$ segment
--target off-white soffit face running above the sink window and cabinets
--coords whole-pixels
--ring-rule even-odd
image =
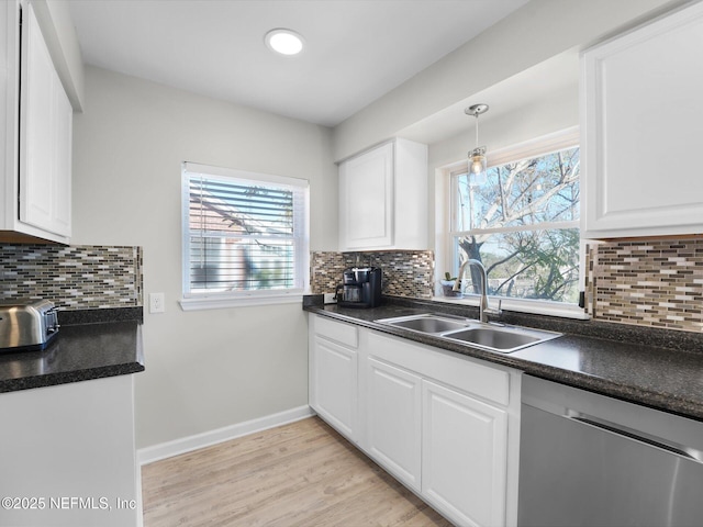
[[[531,0],[337,125],[333,157],[339,160],[364,150],[544,60],[680,3],[681,0]]]

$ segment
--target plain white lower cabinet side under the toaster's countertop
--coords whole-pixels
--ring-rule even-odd
[[[0,393],[0,525],[142,525],[133,377]]]

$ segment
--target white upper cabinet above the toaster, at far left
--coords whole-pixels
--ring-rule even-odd
[[[68,244],[72,105],[33,4],[2,2],[0,24],[0,240]]]

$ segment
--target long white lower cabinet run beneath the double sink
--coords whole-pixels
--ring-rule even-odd
[[[516,525],[520,371],[317,315],[310,327],[321,417],[455,525]]]

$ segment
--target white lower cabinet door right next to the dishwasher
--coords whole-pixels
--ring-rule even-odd
[[[423,381],[422,493],[459,525],[505,525],[505,411]]]

